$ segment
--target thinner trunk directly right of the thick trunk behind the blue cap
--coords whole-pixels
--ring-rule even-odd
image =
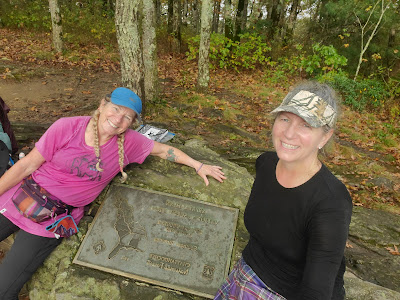
[[[155,100],[158,94],[156,3],[143,1],[143,63],[144,90],[147,100]]]

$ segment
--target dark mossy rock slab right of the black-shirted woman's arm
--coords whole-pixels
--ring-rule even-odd
[[[400,216],[355,206],[350,223],[347,269],[371,283],[400,292]],[[394,250],[390,252],[390,250]]]

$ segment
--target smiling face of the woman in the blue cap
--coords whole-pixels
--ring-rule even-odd
[[[99,109],[99,135],[106,139],[125,132],[136,118],[132,109],[104,100]]]

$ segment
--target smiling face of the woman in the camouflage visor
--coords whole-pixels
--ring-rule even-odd
[[[318,148],[323,147],[333,131],[311,127],[299,116],[282,112],[275,119],[272,141],[280,160],[286,163],[308,165],[314,163]]]

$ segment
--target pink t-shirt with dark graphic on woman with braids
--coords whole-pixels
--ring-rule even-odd
[[[93,147],[85,143],[85,130],[90,117],[62,118],[56,121],[35,144],[46,160],[35,172],[33,179],[50,194],[66,204],[77,207],[71,215],[78,223],[84,206],[91,203],[120,172],[117,137],[100,147],[103,172],[96,170],[96,155]],[[153,149],[154,142],[142,134],[128,129],[125,133],[124,166],[141,164]],[[0,213],[26,232],[54,237],[45,230],[53,221],[37,224],[22,216],[15,208],[11,197],[21,183],[0,196]]]

